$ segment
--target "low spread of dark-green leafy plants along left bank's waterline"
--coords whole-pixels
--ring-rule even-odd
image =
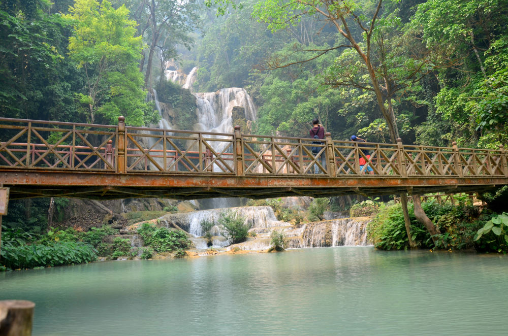
[[[2,264],[12,268],[33,268],[85,263],[97,259],[96,250],[84,243],[52,242],[48,245],[19,245],[2,242]]]

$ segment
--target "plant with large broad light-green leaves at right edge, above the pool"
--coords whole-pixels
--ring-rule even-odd
[[[508,252],[508,213],[493,216],[474,237],[481,250]]]

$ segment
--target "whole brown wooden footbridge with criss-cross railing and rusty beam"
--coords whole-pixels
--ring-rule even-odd
[[[267,198],[483,191],[508,184],[504,148],[471,149],[0,118],[10,198]],[[399,139],[400,140],[400,139]],[[311,148],[320,147],[312,155]],[[370,151],[367,157],[363,150]],[[319,157],[325,156],[325,164]],[[360,158],[372,167],[360,166]],[[314,165],[317,173],[314,174]]]

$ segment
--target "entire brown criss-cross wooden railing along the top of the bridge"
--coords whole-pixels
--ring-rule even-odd
[[[470,149],[0,118],[2,169],[315,177],[506,177],[504,148]],[[372,174],[372,175],[370,175]]]

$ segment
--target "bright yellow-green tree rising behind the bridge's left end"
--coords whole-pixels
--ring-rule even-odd
[[[85,93],[78,96],[87,106],[88,121],[101,116],[115,123],[123,115],[132,125],[152,123],[156,113],[145,102],[138,69],[143,43],[134,37],[136,22],[129,19],[129,10],[114,9],[106,0],[77,0],[70,13],[66,17],[73,20],[75,33],[69,50],[86,75]]]

